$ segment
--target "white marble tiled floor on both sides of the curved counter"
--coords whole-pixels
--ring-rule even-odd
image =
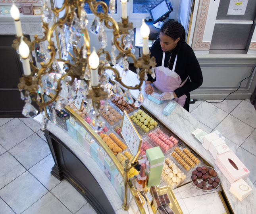
[[[248,100],[196,101],[190,109],[207,132],[218,129],[225,136],[251,171],[249,177],[256,186],[256,111],[252,104]],[[93,214],[78,191],[50,174],[53,165],[37,123],[27,118],[0,118],[0,214]],[[181,206],[189,203],[184,200],[178,199]]]

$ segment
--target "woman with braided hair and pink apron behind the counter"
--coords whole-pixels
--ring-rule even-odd
[[[192,48],[185,42],[185,29],[177,21],[164,23],[151,47],[151,57],[156,58],[156,78],[148,74],[145,92],[152,95],[153,85],[162,91],[160,100],[174,99],[189,112],[189,92],[202,85],[200,65]]]

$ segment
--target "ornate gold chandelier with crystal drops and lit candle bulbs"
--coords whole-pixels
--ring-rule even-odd
[[[96,52],[93,47],[91,52],[90,37],[88,31],[88,16],[85,11],[85,4],[89,5],[90,10],[95,15],[95,18],[90,26],[90,31],[98,35],[101,48]],[[75,93],[72,84],[75,80],[81,80],[79,90],[83,94],[84,100],[87,100],[88,106],[94,110],[96,120],[99,119],[99,107],[100,101],[105,100],[108,97],[108,91],[104,89],[104,83],[108,82],[108,78],[104,71],[110,69],[113,71],[112,80],[116,82],[113,87],[114,93],[123,93],[120,86],[125,87],[126,90],[124,98],[128,103],[133,102],[129,89],[139,89],[141,91],[141,85],[145,80],[147,74],[151,74],[155,77],[155,59],[150,58],[150,52],[148,49],[148,36],[149,28],[142,20],[141,34],[143,37],[143,54],[142,57],[136,59],[135,49],[133,48],[133,23],[129,23],[127,16],[127,0],[121,0],[122,17],[121,23],[117,23],[111,15],[115,13],[115,0],[110,0],[109,7],[105,2],[96,0],[64,0],[61,8],[50,9],[47,6],[47,0],[43,2],[42,11],[42,28],[44,28],[44,36],[38,38],[35,35],[35,40],[29,42],[23,37],[21,30],[21,22],[19,20],[19,10],[13,4],[11,8],[11,15],[15,21],[16,37],[13,41],[13,47],[18,51],[23,62],[23,77],[20,78],[18,84],[21,92],[21,98],[25,100],[25,106],[23,108],[23,115],[27,117],[33,117],[37,115],[36,108],[31,104],[31,101],[35,101],[40,110],[48,106],[52,102],[56,101],[55,108],[62,109],[68,101],[72,101],[75,98]],[[98,7],[102,7],[103,12],[98,12]],[[61,11],[65,11],[63,17],[59,17]],[[108,14],[110,11],[111,15]],[[65,42],[65,25],[69,28],[69,41]],[[105,51],[104,48],[107,45],[107,36],[105,28],[111,29],[113,33],[112,37],[112,51],[111,54]],[[57,31],[59,38],[62,41],[62,51],[64,57],[69,55],[72,62],[65,59],[57,59],[57,49],[52,41],[53,33]],[[81,48],[77,46],[81,39],[84,39],[84,44]],[[33,65],[31,51],[34,51],[35,44],[41,42],[48,42],[47,51],[50,57],[47,57],[46,50],[41,50],[41,68],[37,68]],[[69,48],[73,49],[73,55],[69,52]],[[118,55],[115,55],[115,50],[119,51]],[[104,60],[99,60],[99,57],[104,57]],[[131,57],[134,62],[134,66],[137,68],[137,75],[140,80],[139,84],[135,86],[125,85],[122,82],[119,71],[110,66],[116,64],[117,60],[120,60],[123,64],[123,74],[129,70],[129,62],[127,57]],[[63,62],[65,72],[62,72],[58,62]],[[31,72],[32,70],[32,72]],[[58,74],[52,76],[52,74]],[[44,80],[43,80],[44,76]],[[59,76],[56,79],[56,76]],[[44,81],[44,84],[42,82]],[[43,86],[44,85],[44,86]],[[67,85],[68,93],[62,93],[62,89]],[[47,102],[44,102],[42,96],[44,93],[48,94],[50,90],[54,90],[54,96]],[[24,92],[24,93],[23,93]],[[135,101],[135,105],[140,106],[143,102],[142,94]],[[106,108],[108,108],[108,102],[105,102]],[[46,117],[43,118],[44,123]],[[98,123],[100,126],[100,123]],[[99,127],[100,128],[100,127]],[[99,130],[99,129],[97,129]]]

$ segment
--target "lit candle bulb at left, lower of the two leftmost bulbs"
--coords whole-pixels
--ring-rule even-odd
[[[21,42],[19,45],[19,54],[22,58],[23,72],[26,76],[31,74],[30,64],[29,64],[29,46],[23,41],[23,36],[21,36]]]

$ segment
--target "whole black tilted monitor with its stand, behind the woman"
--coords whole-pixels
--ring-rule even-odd
[[[171,3],[167,0],[160,2],[158,5],[154,6],[154,8],[150,9],[149,12],[154,27],[160,29],[163,25],[162,21],[168,17],[171,11],[173,11],[173,8]]]

